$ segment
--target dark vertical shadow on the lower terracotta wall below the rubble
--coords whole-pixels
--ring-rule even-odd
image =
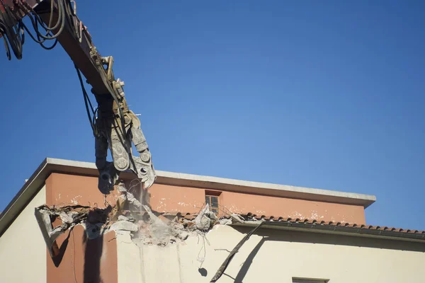
[[[83,234],[84,249],[84,283],[100,283],[101,257],[103,251],[103,234],[98,238],[89,239]]]

